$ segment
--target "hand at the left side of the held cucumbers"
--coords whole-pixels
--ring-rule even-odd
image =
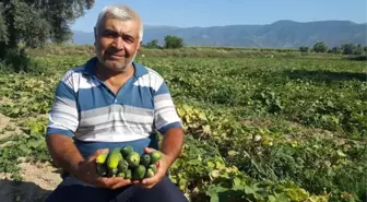
[[[131,180],[123,179],[121,177],[99,177],[96,171],[96,157],[100,153],[108,152],[108,148],[98,150],[94,154],[92,154],[86,161],[81,162],[73,170],[73,176],[78,179],[90,183],[92,186],[96,186],[99,188],[107,189],[118,189],[131,183]]]

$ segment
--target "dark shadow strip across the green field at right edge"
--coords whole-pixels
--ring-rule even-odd
[[[332,72],[328,70],[286,70],[283,73],[289,79],[310,80],[313,82],[367,81],[366,73]]]

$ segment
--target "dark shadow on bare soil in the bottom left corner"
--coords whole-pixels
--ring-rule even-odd
[[[43,202],[50,193],[34,182],[0,180],[1,202]]]

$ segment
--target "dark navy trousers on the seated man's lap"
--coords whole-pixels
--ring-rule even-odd
[[[165,176],[151,189],[128,186],[117,190],[82,183],[60,183],[46,202],[188,202],[183,193]]]

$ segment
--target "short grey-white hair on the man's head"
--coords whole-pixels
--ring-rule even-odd
[[[127,5],[122,4],[113,4],[113,5],[107,5],[105,7],[97,19],[95,29],[98,32],[99,25],[104,19],[118,19],[122,21],[130,21],[130,20],[138,20],[140,23],[140,28],[139,28],[139,41],[143,40],[143,22],[141,21],[139,14],[130,9]]]

